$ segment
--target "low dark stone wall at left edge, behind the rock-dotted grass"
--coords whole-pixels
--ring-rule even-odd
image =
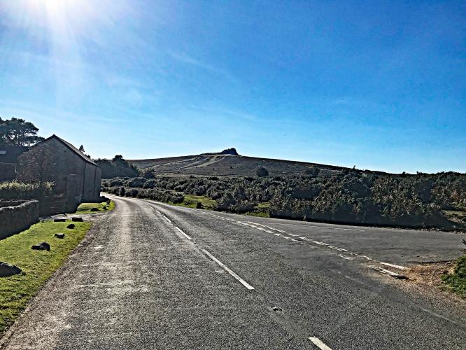
[[[27,230],[38,221],[37,200],[0,201],[0,239]]]

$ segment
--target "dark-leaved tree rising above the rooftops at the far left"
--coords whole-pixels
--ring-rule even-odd
[[[0,118],[0,144],[32,146],[44,139],[37,136],[37,133],[36,125],[24,119],[3,120]]]

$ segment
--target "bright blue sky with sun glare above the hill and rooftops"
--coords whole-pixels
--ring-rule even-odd
[[[0,0],[0,116],[94,158],[466,172],[463,1]]]

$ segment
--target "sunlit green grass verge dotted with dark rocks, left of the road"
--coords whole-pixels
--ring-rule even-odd
[[[69,223],[36,223],[29,230],[0,240],[0,260],[22,269],[20,274],[0,278],[0,337],[91,226],[91,223],[74,223],[76,228],[71,230],[66,228]],[[55,238],[57,232],[64,232],[65,238]],[[50,244],[50,251],[31,249],[41,241]]]

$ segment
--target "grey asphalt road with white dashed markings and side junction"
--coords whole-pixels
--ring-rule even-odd
[[[464,235],[112,198],[6,349],[466,349],[465,302],[372,267],[455,258]]]

